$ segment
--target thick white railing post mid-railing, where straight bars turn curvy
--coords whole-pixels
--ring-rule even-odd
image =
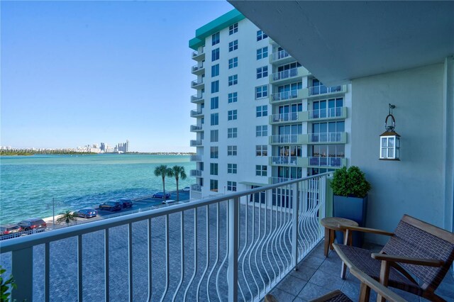
[[[228,301],[238,300],[238,210],[240,198],[228,201]]]

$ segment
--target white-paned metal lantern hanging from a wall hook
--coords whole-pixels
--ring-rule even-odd
[[[394,131],[396,119],[392,115],[392,109],[395,105],[389,104],[389,114],[384,120],[386,131],[380,135],[380,160],[399,160],[400,135]],[[388,118],[392,123],[388,125]]]

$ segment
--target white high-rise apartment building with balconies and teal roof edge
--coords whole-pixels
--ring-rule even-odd
[[[197,29],[189,47],[192,198],[347,164],[350,86],[324,86],[235,9]]]

